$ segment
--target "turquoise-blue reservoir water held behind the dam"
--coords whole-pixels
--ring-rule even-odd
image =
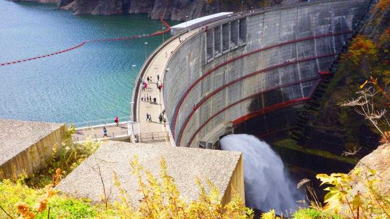
[[[146,14],[74,16],[54,4],[35,2],[0,0],[0,15],[0,63],[163,27]],[[0,118],[78,123],[128,116],[145,41],[150,54],[162,36],[87,43],[64,54],[0,66]],[[134,72],[132,65],[137,65]]]

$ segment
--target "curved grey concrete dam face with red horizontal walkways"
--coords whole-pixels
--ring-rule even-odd
[[[164,78],[176,146],[198,147],[232,124],[302,105],[369,6],[369,0],[319,0],[265,9],[185,39]]]

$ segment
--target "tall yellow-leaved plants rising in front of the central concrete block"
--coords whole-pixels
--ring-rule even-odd
[[[124,218],[246,219],[253,217],[252,209],[246,207],[241,197],[235,192],[232,201],[223,206],[219,190],[210,180],[206,180],[210,191],[207,193],[200,179],[196,178],[195,181],[200,190],[198,200],[183,200],[180,198],[173,177],[168,175],[164,158],[160,160],[159,179],[139,164],[137,156],[131,160],[130,165],[132,173],[138,179],[138,191],[143,198],[140,200],[137,209],[129,211]],[[146,176],[146,178],[143,176]],[[146,182],[144,182],[144,179],[146,179]],[[118,187],[120,184],[116,175],[114,175],[114,180]],[[115,207],[117,212],[123,212],[124,208],[120,207],[120,204],[116,203]]]

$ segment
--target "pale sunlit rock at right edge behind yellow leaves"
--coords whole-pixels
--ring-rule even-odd
[[[365,176],[366,173],[369,174],[369,169],[364,164],[376,170],[376,174],[382,178],[375,177],[380,180],[378,183],[378,192],[381,194],[390,194],[390,144],[379,146],[356,164],[355,168],[362,170],[360,176]],[[366,185],[362,181],[353,182],[352,188],[353,194],[356,194],[357,191],[366,191]]]

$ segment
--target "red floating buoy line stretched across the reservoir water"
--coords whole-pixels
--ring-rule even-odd
[[[40,59],[40,58],[50,57],[52,55],[58,55],[58,54],[66,53],[66,52],[72,51],[74,49],[77,49],[77,48],[79,48],[81,46],[84,46],[86,43],[114,42],[114,41],[118,41],[118,40],[137,39],[137,38],[143,38],[143,37],[154,37],[154,36],[162,35],[162,34],[165,34],[165,33],[169,32],[171,30],[171,26],[167,22],[165,22],[165,20],[163,20],[162,18],[160,18],[160,20],[161,20],[161,22],[165,26],[167,26],[167,29],[165,31],[157,31],[157,32],[155,32],[153,34],[146,34],[146,35],[144,34],[144,35],[136,35],[136,36],[117,37],[117,38],[104,38],[104,39],[86,40],[86,41],[83,41],[82,43],[80,43],[80,44],[78,44],[76,46],[73,46],[73,47],[70,47],[70,48],[67,48],[67,49],[55,52],[55,53],[51,53],[51,54],[47,54],[47,55],[39,55],[39,56],[35,56],[35,57],[32,57],[32,58],[19,59],[19,60],[10,61],[10,62],[4,62],[4,63],[1,63],[0,66],[12,65],[12,64],[20,63],[20,62],[32,61],[32,60],[36,60],[36,59]]]

